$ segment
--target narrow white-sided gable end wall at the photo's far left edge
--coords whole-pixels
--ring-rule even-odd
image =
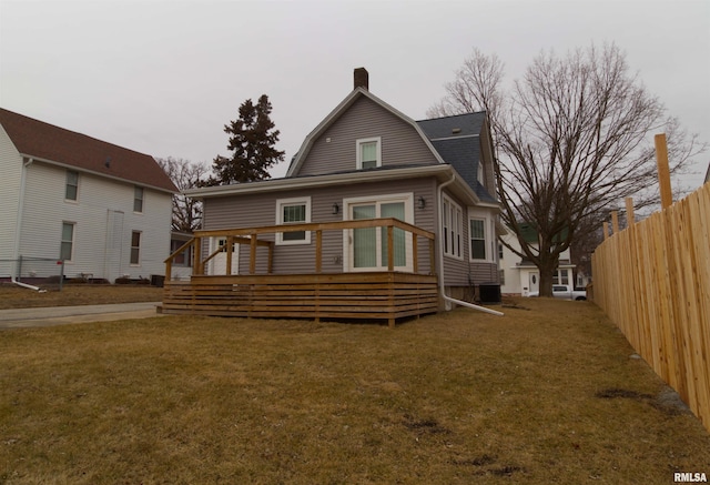
[[[0,170],[2,171],[2,190],[0,190],[0,260],[11,260],[14,257],[22,158],[2,125],[0,125]],[[0,277],[9,276],[9,263],[0,262]]]

